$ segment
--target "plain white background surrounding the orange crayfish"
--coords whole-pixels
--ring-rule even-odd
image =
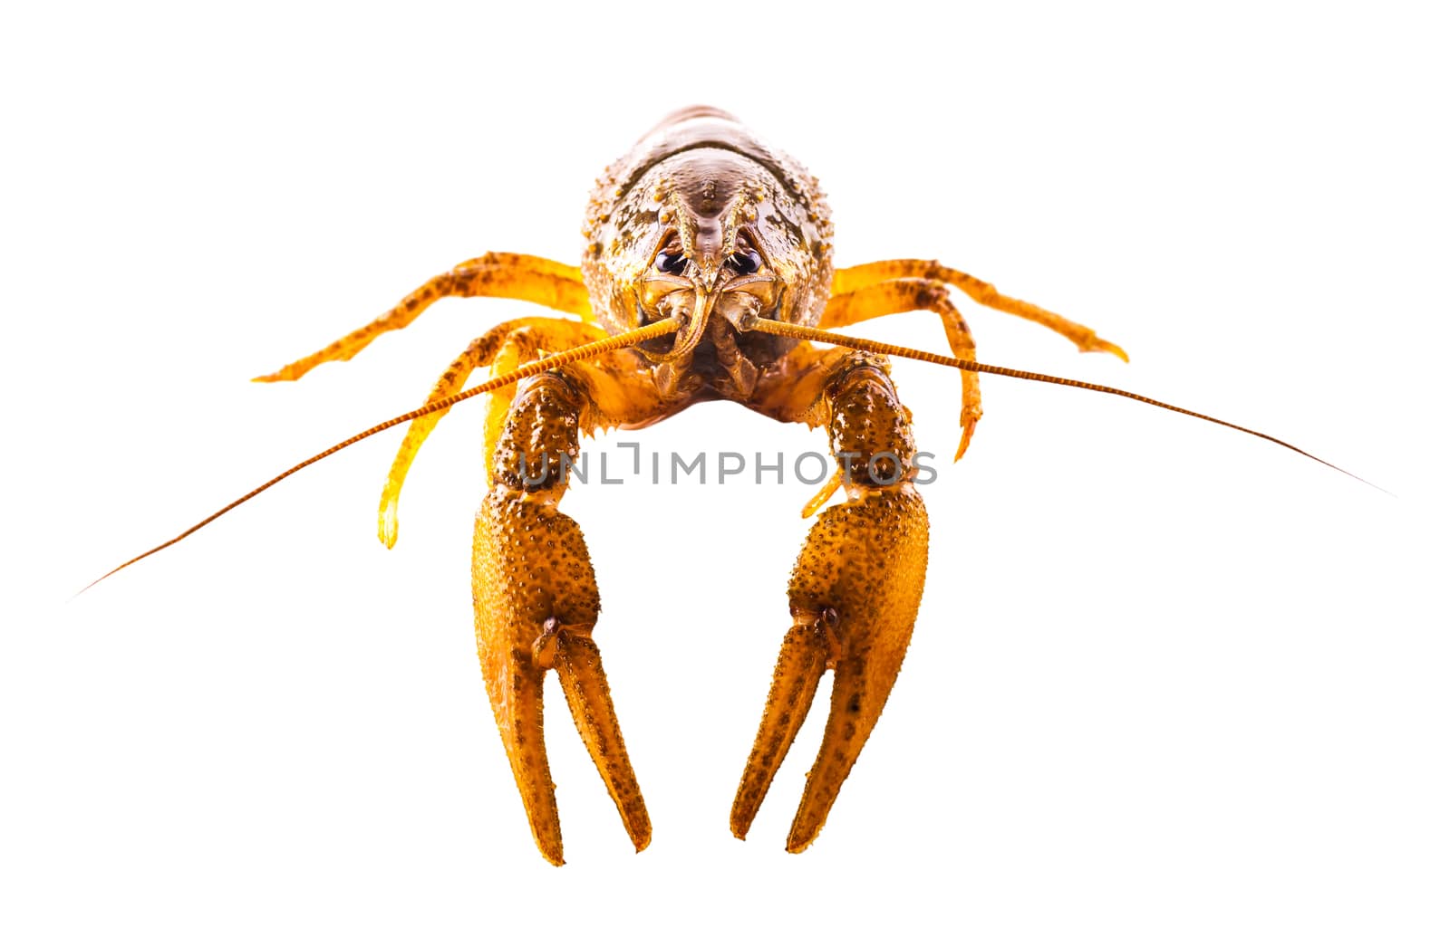
[[[0,919],[1446,922],[1433,4],[782,6],[4,14]],[[68,601],[532,311],[450,301],[352,363],[248,382],[484,250],[574,261],[597,171],[689,103],[822,178],[840,263],[940,258],[1132,355],[969,307],[983,360],[1243,421],[1395,495],[985,382],[972,452],[925,488],[914,647],[799,857],[824,712],[748,843],[726,814],[808,486],[570,494],[655,831],[634,856],[551,683],[563,870],[473,653],[476,404],[419,457],[393,552],[397,434]],[[942,350],[931,319],[863,330]],[[896,371],[948,457],[956,376]],[[624,437],[824,447],[725,404]]]

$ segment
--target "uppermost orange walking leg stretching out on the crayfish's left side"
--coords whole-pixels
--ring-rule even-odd
[[[265,374],[258,381],[294,381],[326,360],[348,360],[384,332],[405,329],[423,310],[444,297],[505,297],[526,300],[590,321],[589,291],[579,268],[534,255],[487,253],[439,274],[387,313],[351,332],[319,352]]]

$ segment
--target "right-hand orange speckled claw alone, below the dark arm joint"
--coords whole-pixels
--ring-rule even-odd
[[[925,578],[927,510],[909,485],[864,494],[821,514],[790,578],[795,624],[780,646],[731,809],[737,838],[750,831],[821,675],[834,669],[831,715],[786,850],[800,853],[821,832],[896,682]]]

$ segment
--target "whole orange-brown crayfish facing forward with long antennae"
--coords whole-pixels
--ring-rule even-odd
[[[948,288],[1045,326],[1080,350],[1127,355],[1086,326],[935,261],[834,268],[831,213],[818,181],[716,109],[673,113],[610,165],[589,201],[584,237],[580,266],[516,253],[467,261],[367,326],[257,378],[291,381],[323,362],[347,360],[444,297],[505,297],[563,314],[494,326],[452,362],[420,408],[302,462],[141,554],[174,544],[309,463],[407,421],[378,515],[378,534],[392,546],[399,494],[419,446],[454,402],[487,394],[489,491],[473,543],[478,659],[534,840],[552,864],[564,859],[544,750],[550,669],[635,848],[650,843],[650,817],[592,638],[600,608],[593,568],[579,524],[558,508],[570,478],[561,463],[577,459],[581,431],[642,429],[708,400],[825,427],[837,468],[806,505],[816,521],[790,575],[790,627],[729,815],[731,831],[744,838],[821,678],[832,670],[825,737],[789,851],[816,838],[880,718],[927,576],[927,510],[914,485],[911,416],[887,355],[960,371],[957,457],[982,417],[983,372],[1116,394],[1286,444],[1111,387],[979,363]],[[950,356],[832,332],[911,311],[937,314]],[[490,379],[464,389],[480,368]],[[837,492],[844,501],[826,507]]]

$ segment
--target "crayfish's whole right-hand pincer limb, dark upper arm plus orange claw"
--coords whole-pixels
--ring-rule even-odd
[[[834,359],[834,375],[818,400],[796,408],[795,421],[824,414],[847,501],[821,514],[796,560],[795,623],[731,809],[731,831],[744,838],[821,676],[834,669],[825,738],[786,843],[792,853],[819,834],[886,705],[927,578],[927,510],[911,482],[915,444],[884,362],[863,353],[822,358]]]

